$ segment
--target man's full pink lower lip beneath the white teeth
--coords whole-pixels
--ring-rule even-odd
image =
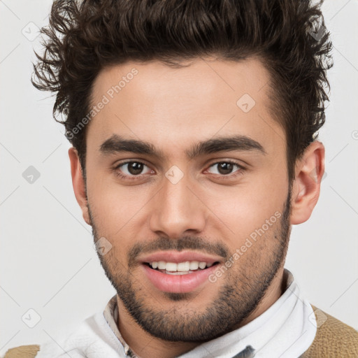
[[[185,275],[170,275],[150,268],[145,264],[142,266],[150,282],[160,291],[187,293],[194,291],[204,282],[208,282],[208,276],[215,271],[217,265]]]

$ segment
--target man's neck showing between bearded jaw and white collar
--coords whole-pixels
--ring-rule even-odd
[[[245,318],[245,320],[238,322],[230,331],[234,331],[240,327],[245,326],[256,317],[262,315],[268,308],[270,308],[275,301],[277,301],[283,292],[285,292],[287,276],[284,273],[283,267],[273,278],[271,285],[268,287],[264,297],[259,302],[255,310]],[[124,307],[122,300],[117,296],[118,315],[120,317],[118,329],[124,338],[124,341],[129,345],[131,350],[138,357],[146,358],[173,358],[189,352],[201,343],[196,342],[170,342],[164,341],[160,338],[154,337],[145,331],[134,319],[129,315],[127,309]],[[227,332],[229,333],[229,332]]]

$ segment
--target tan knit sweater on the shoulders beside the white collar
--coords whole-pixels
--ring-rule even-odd
[[[310,348],[297,358],[358,358],[358,331],[312,307],[317,333]],[[3,358],[34,358],[39,350],[39,345],[21,345],[8,350]]]

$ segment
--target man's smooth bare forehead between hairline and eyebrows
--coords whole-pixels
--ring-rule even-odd
[[[268,149],[284,145],[284,131],[268,109],[269,74],[259,59],[184,64],[127,62],[103,69],[94,81],[92,106],[105,104],[90,121],[87,147],[99,150],[113,134],[173,150],[228,134]]]

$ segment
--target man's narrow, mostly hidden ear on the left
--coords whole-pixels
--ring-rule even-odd
[[[87,207],[85,180],[83,178],[83,171],[81,169],[78,152],[75,148],[72,147],[69,149],[69,157],[71,162],[72,185],[76,200],[82,210],[83,219],[87,222],[87,224],[92,225]]]

